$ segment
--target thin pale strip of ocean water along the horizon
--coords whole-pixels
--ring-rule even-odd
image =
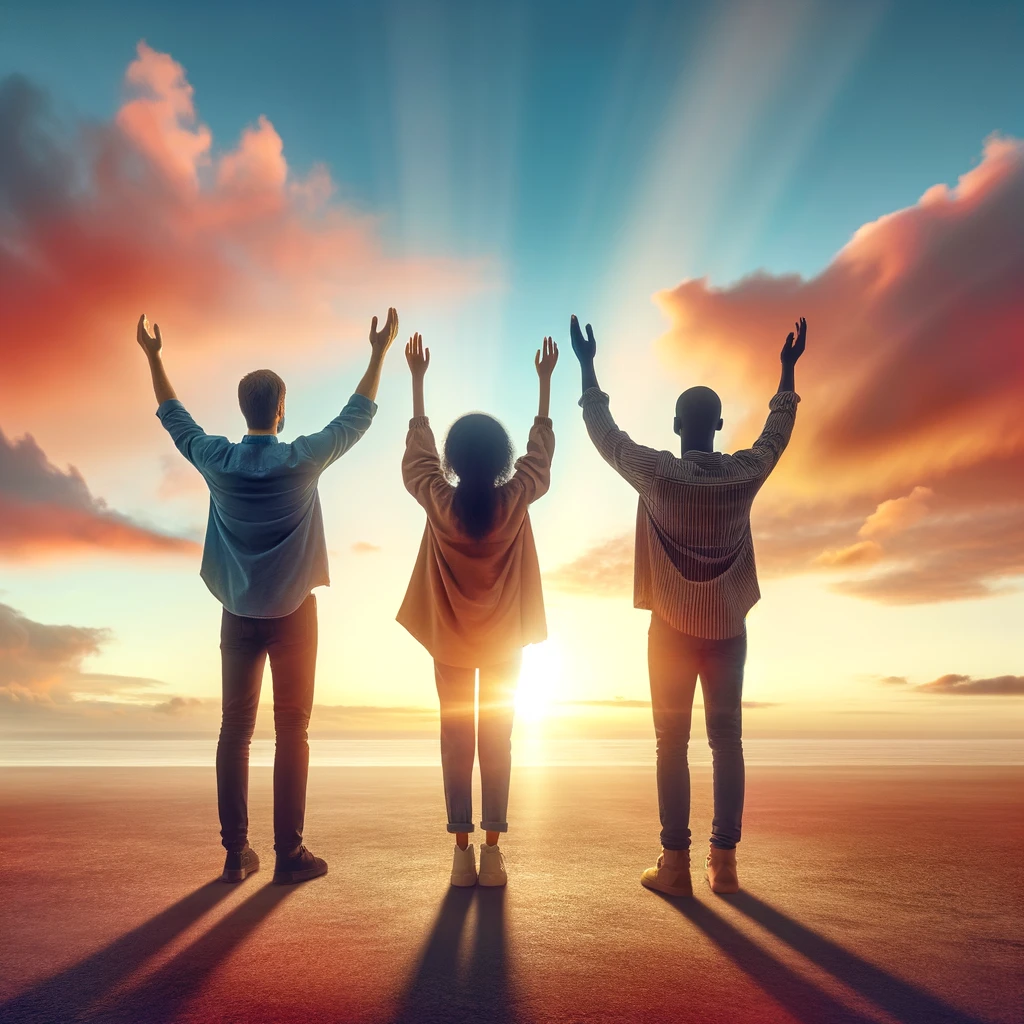
[[[429,767],[440,764],[435,737],[310,739],[310,764],[337,767]],[[0,739],[0,767],[210,767],[216,739]],[[761,739],[743,740],[751,767],[1024,765],[1021,739]],[[649,767],[652,739],[538,739],[513,742],[514,764],[547,767]],[[711,764],[702,740],[690,762]],[[254,766],[273,763],[273,740],[254,739]]]

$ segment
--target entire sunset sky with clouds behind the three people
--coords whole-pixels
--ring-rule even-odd
[[[620,425],[675,449],[705,383],[729,451],[807,317],[755,506],[749,734],[1020,733],[1024,8],[90,7],[0,10],[0,733],[215,728],[206,492],[138,314],[211,433],[240,437],[239,378],[276,370],[287,440],[336,415],[388,305],[377,418],[321,484],[313,731],[425,728],[436,702],[394,622],[419,331],[438,435],[481,409],[520,452],[534,352],[561,345],[523,716],[649,732],[636,498],[575,404],[575,312]]]

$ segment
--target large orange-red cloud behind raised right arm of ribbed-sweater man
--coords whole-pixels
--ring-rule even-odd
[[[793,442],[755,506],[767,572],[843,570],[890,603],[982,597],[1024,575],[1024,142],[992,137],[953,187],[865,224],[817,276],[687,281],[657,300],[687,383],[756,436],[798,315]],[[854,574],[849,574],[849,573]]]

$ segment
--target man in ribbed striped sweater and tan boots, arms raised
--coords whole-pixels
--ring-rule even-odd
[[[736,892],[736,844],[743,811],[741,698],[746,658],[746,612],[761,596],[751,538],[751,506],[793,432],[800,396],[795,367],[804,351],[801,318],[782,348],[782,377],[768,422],[750,449],[715,451],[722,402],[706,387],[676,402],[675,432],[682,456],[656,452],[615,426],[608,396],[598,387],[597,343],[575,316],[572,350],[583,371],[584,422],[602,458],[640,496],[637,507],[633,603],[651,612],[650,696],[657,741],[657,801],[662,855],[641,876],[648,889],[692,896],[690,776],[686,749],[699,677],[714,763],[715,817],[706,866],[711,888]]]

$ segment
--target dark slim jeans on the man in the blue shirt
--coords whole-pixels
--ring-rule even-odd
[[[241,850],[249,831],[249,741],[256,726],[263,668],[273,676],[273,848],[282,857],[302,845],[316,668],[316,598],[290,615],[244,618],[226,609],[220,626],[223,719],[217,743],[217,809],[227,850]]]

